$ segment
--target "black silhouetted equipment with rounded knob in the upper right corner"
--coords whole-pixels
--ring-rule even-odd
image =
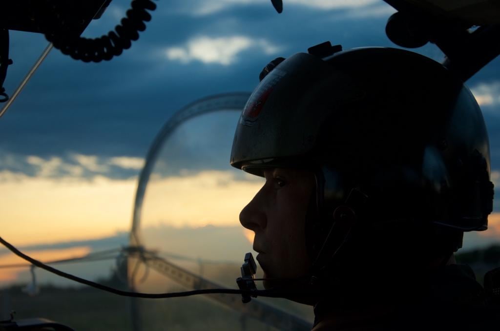
[[[466,7],[451,10],[443,4],[442,8],[439,4],[423,4],[432,1],[384,1],[397,10],[385,26],[387,37],[406,48],[434,43],[446,55],[443,65],[462,81],[500,54],[498,1],[482,1],[482,6],[471,4],[468,12]]]

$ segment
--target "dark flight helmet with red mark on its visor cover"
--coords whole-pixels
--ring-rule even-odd
[[[328,42],[269,63],[241,113],[230,163],[256,175],[314,171],[306,236],[317,259],[338,253],[347,234],[363,249],[451,253],[463,231],[487,228],[492,210],[476,100],[443,65],[402,49]],[[355,225],[332,230],[342,217]]]

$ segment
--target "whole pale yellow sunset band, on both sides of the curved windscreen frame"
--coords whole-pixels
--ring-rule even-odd
[[[253,176],[254,177],[254,176]],[[241,208],[261,186],[230,171],[201,171],[148,185],[142,225],[238,225]],[[29,177],[0,172],[2,230],[17,245],[113,235],[131,226],[136,179]]]

